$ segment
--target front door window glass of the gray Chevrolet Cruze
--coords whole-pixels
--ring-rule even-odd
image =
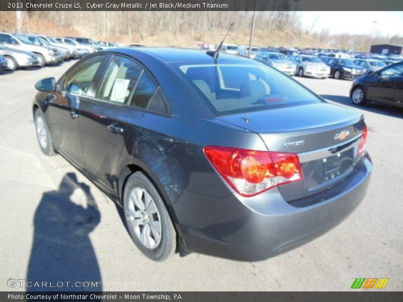
[[[98,55],[81,62],[65,75],[61,90],[86,95],[104,58],[105,55]]]

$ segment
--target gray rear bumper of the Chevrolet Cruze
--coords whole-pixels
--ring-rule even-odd
[[[190,215],[179,223],[184,251],[260,261],[301,246],[353,212],[365,197],[371,171],[372,163],[366,155],[343,189],[337,191],[335,186],[334,195],[323,201],[318,196],[317,203],[309,206],[287,203],[276,190],[249,199],[231,194],[212,200],[188,193],[188,203],[196,207],[193,211],[199,211],[198,216]]]

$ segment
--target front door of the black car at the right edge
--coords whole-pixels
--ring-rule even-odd
[[[396,80],[399,78],[397,72],[391,66],[371,74],[372,81],[367,84],[367,98],[381,103],[394,103]]]

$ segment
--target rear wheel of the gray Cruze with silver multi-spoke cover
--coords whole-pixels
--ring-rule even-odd
[[[176,232],[164,202],[153,183],[141,172],[132,174],[123,193],[128,232],[148,258],[164,261],[176,250]]]

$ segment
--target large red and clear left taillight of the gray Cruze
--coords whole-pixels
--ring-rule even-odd
[[[302,180],[298,155],[206,146],[207,158],[242,196],[253,196],[276,186]]]

